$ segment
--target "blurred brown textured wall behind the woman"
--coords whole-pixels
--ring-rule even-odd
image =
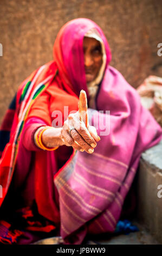
[[[111,65],[137,87],[150,74],[162,76],[162,2],[159,0],[1,0],[0,122],[18,85],[52,59],[61,26],[74,18],[94,20],[112,50]]]

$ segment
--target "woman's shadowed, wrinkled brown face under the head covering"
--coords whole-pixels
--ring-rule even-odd
[[[83,39],[83,52],[85,58],[86,82],[92,82],[98,76],[102,65],[101,45],[95,38]]]

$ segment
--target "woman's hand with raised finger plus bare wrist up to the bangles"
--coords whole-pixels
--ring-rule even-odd
[[[63,127],[51,127],[42,133],[42,142],[46,147],[67,145],[82,152],[93,153],[100,137],[95,127],[88,124],[87,95],[84,90],[80,92],[78,107],[76,113],[69,114]]]

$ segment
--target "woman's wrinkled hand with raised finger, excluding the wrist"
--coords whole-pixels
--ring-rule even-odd
[[[100,137],[95,127],[88,124],[87,95],[84,90],[80,92],[78,106],[79,110],[69,114],[67,120],[64,121],[61,139],[67,146],[92,154]]]

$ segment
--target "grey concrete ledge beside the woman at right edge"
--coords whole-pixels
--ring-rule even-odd
[[[142,153],[137,179],[138,221],[162,243],[162,197],[158,197],[158,185],[162,185],[162,141]]]

